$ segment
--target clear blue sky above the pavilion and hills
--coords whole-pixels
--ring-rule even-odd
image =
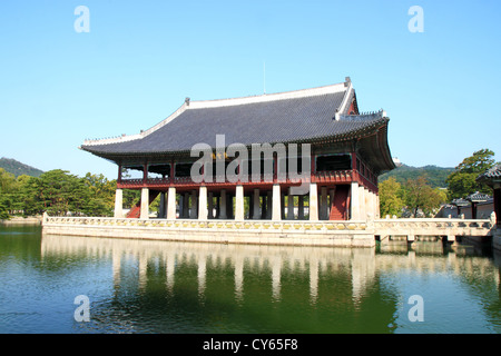
[[[90,32],[73,13],[89,11]],[[424,32],[409,31],[411,6]],[[86,138],[137,134],[184,101],[352,78],[391,118],[392,156],[454,167],[501,160],[501,1],[0,1],[0,156],[42,170],[117,168]]]

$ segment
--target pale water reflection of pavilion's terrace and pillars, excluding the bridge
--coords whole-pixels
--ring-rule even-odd
[[[310,296],[318,294],[318,275],[338,269],[351,271],[353,298],[361,297],[375,274],[374,249],[220,245],[204,243],[175,243],[158,240],[109,239],[91,237],[63,237],[43,235],[42,257],[53,255],[82,255],[112,258],[115,283],[119,283],[122,260],[137,264],[139,286],[147,281],[148,264],[161,264],[166,270],[166,285],[171,289],[176,269],[181,264],[197,266],[198,290],[206,288],[207,266],[230,265],[234,269],[235,297],[240,299],[244,289],[244,269],[271,270],[274,299],[281,298],[281,279],[284,269],[306,273],[310,279]]]

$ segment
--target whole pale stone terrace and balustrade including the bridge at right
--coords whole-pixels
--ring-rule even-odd
[[[165,239],[212,243],[373,247],[375,236],[483,238],[495,235],[489,219],[376,219],[367,220],[222,220],[128,219],[107,217],[50,217],[43,230],[52,235]]]

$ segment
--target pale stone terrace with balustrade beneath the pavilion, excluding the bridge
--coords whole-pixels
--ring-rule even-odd
[[[223,244],[374,247],[366,221],[43,217],[43,234]]]

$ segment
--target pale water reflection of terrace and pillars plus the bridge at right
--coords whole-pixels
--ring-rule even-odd
[[[55,255],[82,255],[110,257],[115,284],[120,283],[124,260],[135,264],[139,288],[147,283],[148,265],[161,265],[166,271],[166,288],[171,290],[176,271],[183,264],[196,266],[198,294],[204,295],[207,266],[230,266],[234,293],[237,300],[244,297],[245,270],[255,269],[268,274],[272,295],[281,299],[282,278],[285,273],[308,276],[310,298],[318,298],[320,276],[342,273],[351,285],[351,298],[356,303],[367,288],[376,283],[377,274],[386,270],[412,269],[418,273],[453,271],[461,276],[489,279],[500,286],[500,271],[492,261],[482,257],[450,251],[439,256],[441,245],[426,244],[428,248],[406,253],[377,254],[374,249],[289,247],[259,245],[220,245],[203,243],[175,243],[158,240],[109,239],[91,237],[63,237],[45,235],[41,244],[42,258]],[[430,247],[431,246],[431,247]],[[497,265],[500,265],[498,261]]]

